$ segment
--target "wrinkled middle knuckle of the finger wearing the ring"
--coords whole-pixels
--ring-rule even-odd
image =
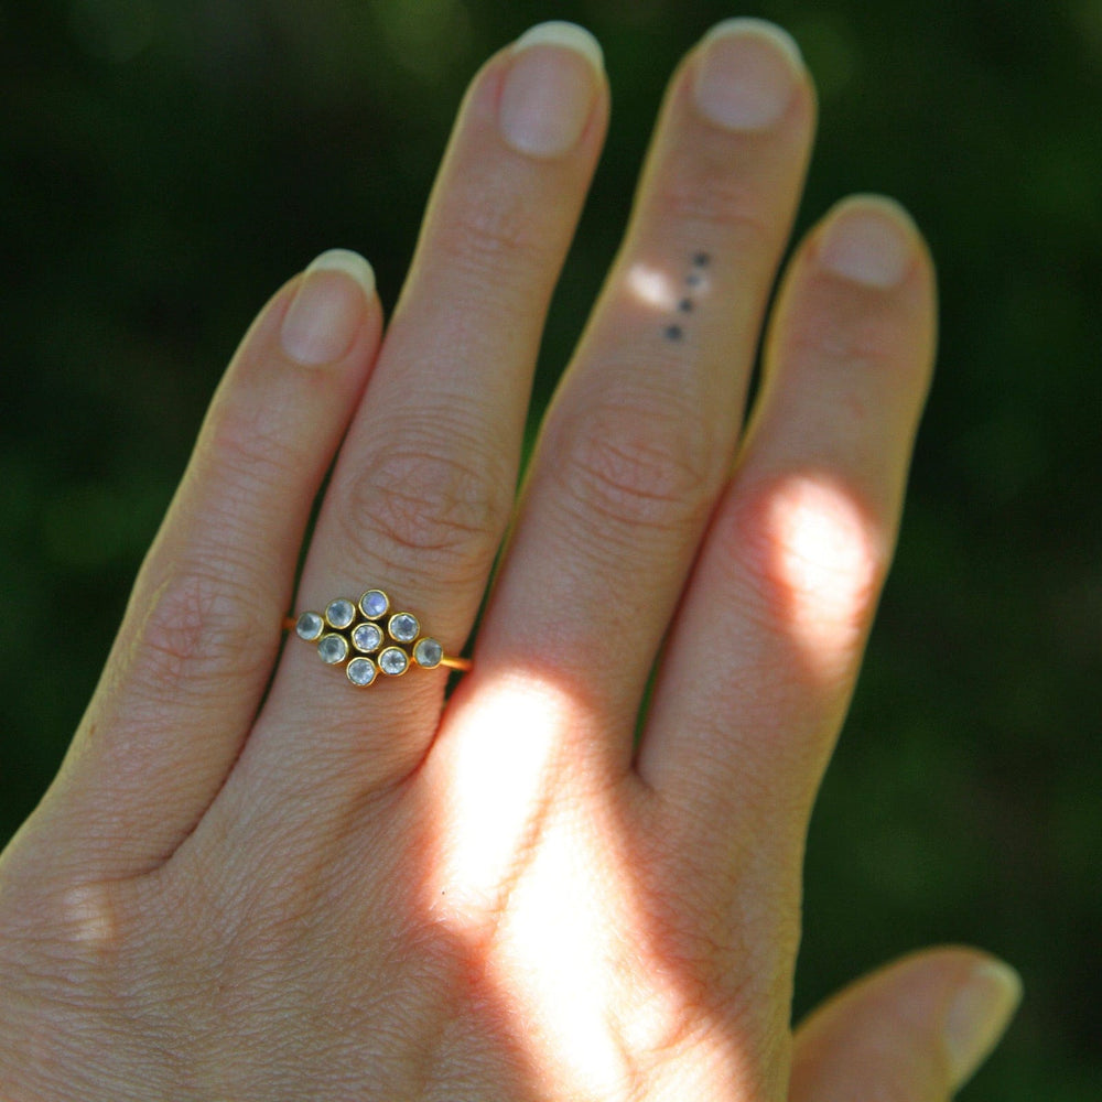
[[[343,517],[353,547],[369,541],[391,568],[415,554],[419,570],[454,581],[482,570],[497,545],[512,485],[489,449],[435,437],[407,431],[401,444],[369,458]]]

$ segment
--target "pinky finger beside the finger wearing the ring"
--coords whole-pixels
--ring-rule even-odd
[[[99,688],[29,824],[60,836],[82,875],[166,860],[225,780],[381,328],[370,266],[332,250],[268,303],[238,348]]]

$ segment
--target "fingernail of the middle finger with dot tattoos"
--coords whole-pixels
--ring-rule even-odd
[[[802,78],[800,47],[761,19],[726,19],[704,35],[696,106],[727,130],[765,130],[791,102]]]

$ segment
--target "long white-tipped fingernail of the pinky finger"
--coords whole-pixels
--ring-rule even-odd
[[[303,274],[280,337],[283,350],[300,364],[317,366],[341,359],[375,294],[375,272],[348,249],[323,252]]]

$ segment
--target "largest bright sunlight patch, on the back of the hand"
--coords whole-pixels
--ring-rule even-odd
[[[571,737],[592,727],[584,703],[518,668],[453,707],[423,775],[428,908],[469,948],[487,1002],[522,1024],[526,1062],[562,1098],[635,1096],[640,1076],[667,1068],[671,1099],[742,1082],[741,1050],[656,955],[622,809],[586,789]]]

